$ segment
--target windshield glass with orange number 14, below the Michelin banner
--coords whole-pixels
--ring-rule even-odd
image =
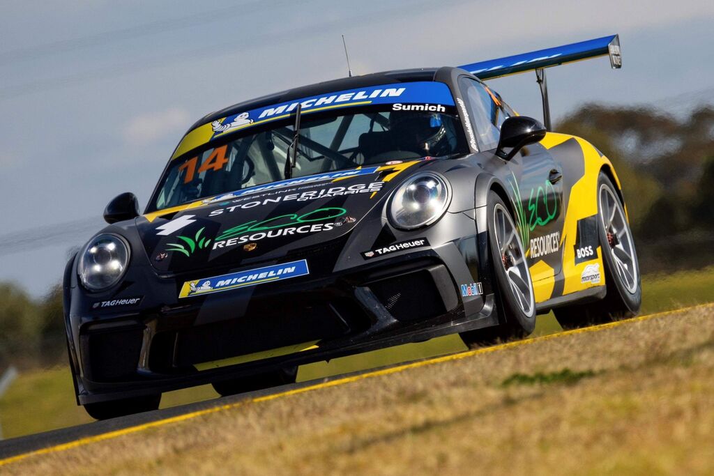
[[[292,177],[425,156],[468,153],[453,106],[387,103],[301,115]],[[285,178],[294,113],[214,140],[171,161],[150,210]],[[220,128],[216,123],[213,130]],[[226,141],[226,139],[230,139]]]

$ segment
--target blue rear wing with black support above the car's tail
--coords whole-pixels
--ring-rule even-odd
[[[459,68],[466,69],[466,71],[482,80],[535,71],[540,93],[543,96],[543,122],[545,127],[550,130],[550,106],[548,105],[548,85],[545,82],[545,68],[582,61],[583,59],[598,58],[599,56],[609,56],[610,66],[613,69],[621,68],[623,60],[620,53],[620,36],[603,36],[594,40],[555,46],[555,48],[465,64],[459,66]]]

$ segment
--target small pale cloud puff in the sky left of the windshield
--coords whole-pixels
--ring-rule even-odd
[[[188,111],[176,107],[164,111],[142,113],[126,124],[124,140],[129,145],[146,145],[160,141],[166,136],[186,131],[190,125],[189,120]]]

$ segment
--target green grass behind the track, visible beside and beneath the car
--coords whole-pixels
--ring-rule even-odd
[[[643,279],[643,313],[709,302],[714,302],[714,267],[686,273],[653,275]],[[560,326],[550,314],[538,318],[534,335],[546,335],[559,330]],[[466,346],[458,336],[448,336],[426,343],[335,359],[329,364],[305,365],[298,373],[298,380],[312,380],[465,349]],[[217,396],[206,385],[166,393],[161,406],[169,407]],[[90,421],[91,418],[74,402],[69,370],[64,367],[24,373],[0,399],[0,425],[2,435],[6,438]]]

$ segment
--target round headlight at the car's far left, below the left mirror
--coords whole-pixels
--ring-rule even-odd
[[[79,258],[79,279],[90,291],[115,285],[129,264],[129,245],[116,235],[99,235],[84,247]]]

